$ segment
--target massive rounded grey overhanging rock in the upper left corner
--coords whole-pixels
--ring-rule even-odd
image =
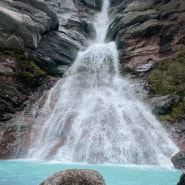
[[[0,45],[23,50],[37,48],[44,32],[58,29],[57,15],[39,0],[0,2]]]

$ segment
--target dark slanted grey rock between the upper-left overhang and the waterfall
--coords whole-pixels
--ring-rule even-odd
[[[51,75],[62,76],[75,60],[78,51],[95,36],[92,16],[95,11],[92,10],[92,13],[81,1],[75,3],[65,1],[64,4],[58,1],[46,3],[58,13],[59,31],[45,34],[39,47],[36,50],[27,50],[26,56],[29,59],[39,59],[41,62],[37,64],[49,70]]]

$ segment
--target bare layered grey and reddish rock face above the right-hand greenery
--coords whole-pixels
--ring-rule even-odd
[[[107,40],[116,41],[123,66],[161,62],[184,47],[184,10],[184,1],[113,1]]]

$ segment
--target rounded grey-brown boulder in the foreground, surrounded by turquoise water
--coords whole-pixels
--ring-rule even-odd
[[[105,185],[103,177],[94,170],[72,169],[55,173],[40,185]]]

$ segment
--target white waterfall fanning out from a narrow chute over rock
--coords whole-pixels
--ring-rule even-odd
[[[164,165],[177,151],[119,75],[115,43],[104,43],[108,7],[105,0],[95,21],[95,43],[79,52],[66,77],[50,90],[28,158]]]

